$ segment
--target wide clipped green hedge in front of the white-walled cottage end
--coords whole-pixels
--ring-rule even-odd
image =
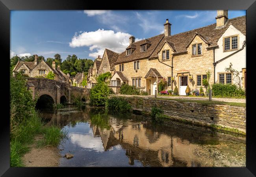
[[[215,83],[212,85],[212,94],[215,97],[244,97],[245,91],[233,84]]]

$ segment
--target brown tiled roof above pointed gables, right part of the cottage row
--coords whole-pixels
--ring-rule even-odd
[[[168,43],[171,42],[174,44],[174,48],[176,52],[182,52],[186,50],[187,45],[193,37],[195,37],[195,34],[198,33],[202,37],[202,39],[209,42],[210,46],[217,45],[217,41],[219,38],[223,35],[223,33],[226,31],[226,29],[232,24],[237,30],[241,31],[241,33],[246,35],[246,16],[241,16],[237,18],[228,19],[226,22],[226,25],[223,28],[215,28],[215,24],[211,24],[202,28],[197,28],[195,30],[186,31],[183,33],[178,33],[176,35],[166,36],[163,38],[163,40],[159,43],[156,50],[152,53],[150,58],[152,57],[158,57],[158,51],[161,49],[161,46],[165,41]]]

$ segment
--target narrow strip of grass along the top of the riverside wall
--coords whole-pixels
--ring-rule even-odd
[[[246,107],[246,103],[234,103],[234,102],[224,102],[224,101],[186,100],[186,99],[178,99],[178,98],[156,98],[156,99],[157,100],[173,100],[173,101],[178,101],[179,103],[193,102],[193,103],[201,103],[203,105],[230,105],[230,106]]]

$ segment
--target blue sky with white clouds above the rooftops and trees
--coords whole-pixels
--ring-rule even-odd
[[[228,18],[246,15],[246,11],[228,11]],[[163,33],[168,18],[171,35],[215,23],[217,11],[11,11],[11,46],[13,55],[56,53],[66,59],[95,59],[108,48],[123,52],[130,35],[135,41]]]

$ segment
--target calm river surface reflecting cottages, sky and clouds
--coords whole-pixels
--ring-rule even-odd
[[[69,131],[69,139],[61,144],[61,155],[72,153],[74,158],[61,158],[60,166],[217,166],[219,161],[204,146],[245,148],[244,138],[175,122],[155,123],[143,116],[105,112],[103,108],[43,115],[50,120],[48,124]],[[245,156],[245,151],[242,153]],[[237,166],[245,164],[245,159],[241,161]],[[236,166],[232,163],[223,162]]]

